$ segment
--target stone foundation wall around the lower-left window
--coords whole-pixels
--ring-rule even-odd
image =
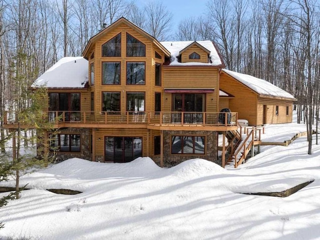
[[[89,128],[65,128],[59,129],[60,134],[80,134],[80,152],[56,152],[56,161],[63,161],[68,158],[78,157],[91,161],[92,154],[90,153],[90,134]]]

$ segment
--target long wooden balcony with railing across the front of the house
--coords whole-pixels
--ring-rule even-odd
[[[90,112],[44,111],[54,128],[147,128],[158,130],[236,130],[237,113],[232,112]],[[14,111],[4,114],[4,128],[16,129]],[[20,121],[21,128],[32,128]]]

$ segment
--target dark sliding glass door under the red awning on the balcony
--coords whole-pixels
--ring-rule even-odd
[[[172,112],[184,112],[183,123],[202,122],[205,111],[205,94],[175,93],[172,94]],[[172,122],[181,122],[181,113],[172,113]]]

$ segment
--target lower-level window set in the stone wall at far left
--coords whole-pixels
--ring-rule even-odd
[[[60,152],[79,152],[80,134],[56,134],[49,135],[50,151],[58,150]]]

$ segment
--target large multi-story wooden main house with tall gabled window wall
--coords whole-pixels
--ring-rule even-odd
[[[237,108],[238,92],[221,85],[232,77],[223,68],[211,41],[158,42],[120,18],[89,40],[82,57],[59,60],[32,87],[46,84],[48,119],[58,129],[48,136],[61,159],[217,162],[218,133],[236,131],[238,118],[219,109],[257,123]]]

